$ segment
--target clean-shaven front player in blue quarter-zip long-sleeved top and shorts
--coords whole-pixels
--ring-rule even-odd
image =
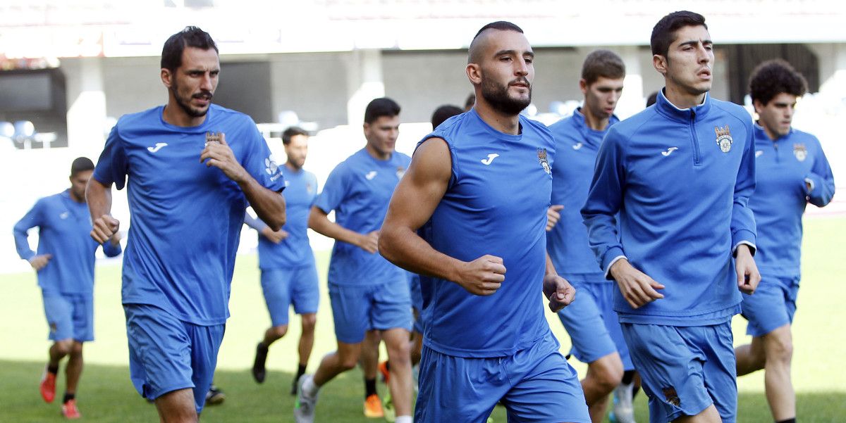
[[[618,312],[649,396],[650,420],[733,422],[731,318],[761,279],[752,254],[752,122],[711,99],[705,18],[674,12],[655,25],[656,104],[602,141],[582,216],[591,247],[617,282]]]

